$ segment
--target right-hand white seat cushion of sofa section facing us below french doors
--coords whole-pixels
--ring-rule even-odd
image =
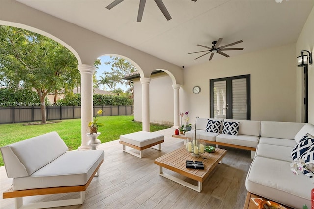
[[[230,134],[219,134],[216,137],[217,142],[234,144],[246,147],[256,147],[259,142],[258,136],[250,135],[230,135]]]

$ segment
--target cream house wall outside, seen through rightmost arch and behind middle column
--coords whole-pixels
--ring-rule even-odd
[[[150,122],[173,125],[173,88],[169,75],[165,72],[151,76],[150,82]],[[142,84],[134,79],[134,120],[142,121]]]

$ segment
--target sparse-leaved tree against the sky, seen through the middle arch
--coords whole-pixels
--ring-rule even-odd
[[[122,78],[126,77],[127,75],[138,72],[138,70],[127,60],[120,58],[120,57],[113,57],[110,56],[111,61],[105,62],[105,65],[111,64],[111,79],[114,81],[114,89],[115,85],[120,82],[124,84],[126,87],[130,87],[131,93],[134,96],[134,88],[133,83],[131,80],[124,80]]]

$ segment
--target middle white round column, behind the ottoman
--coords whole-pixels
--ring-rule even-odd
[[[150,131],[149,126],[149,83],[152,79],[150,78],[140,78],[142,83],[142,130]]]

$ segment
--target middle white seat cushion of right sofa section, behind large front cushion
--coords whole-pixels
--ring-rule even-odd
[[[292,147],[288,146],[278,146],[259,143],[257,145],[255,154],[257,156],[288,161],[291,163],[292,162],[291,150]]]

